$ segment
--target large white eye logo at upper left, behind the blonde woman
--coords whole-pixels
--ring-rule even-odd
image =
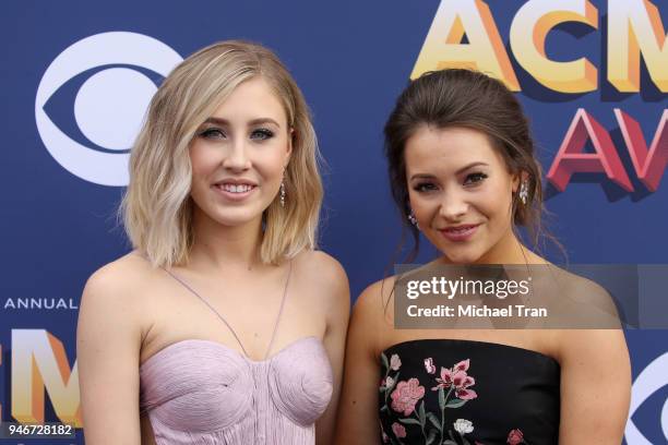
[[[102,185],[128,184],[130,147],[157,87],[142,73],[163,77],[182,61],[170,47],[142,34],[103,33],[76,41],[47,68],[35,99],[37,130],[47,151],[72,175]],[[73,117],[87,141],[67,135],[45,105],[71,79],[94,73],[74,98]]]

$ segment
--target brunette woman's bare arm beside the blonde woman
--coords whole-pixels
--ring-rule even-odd
[[[381,284],[377,282],[359,296],[353,310],[336,424],[336,444],[379,443],[380,362],[377,357],[377,339],[382,327],[382,314]]]

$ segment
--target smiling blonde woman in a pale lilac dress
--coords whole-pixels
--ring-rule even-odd
[[[122,202],[134,251],[88,279],[86,443],[329,443],[348,285],[315,251],[303,97],[274,53],[224,41],[153,98]]]

